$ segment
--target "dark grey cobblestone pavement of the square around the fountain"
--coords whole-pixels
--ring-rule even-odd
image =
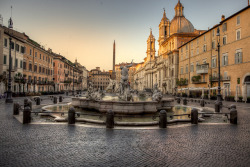
[[[250,166],[249,104],[237,103],[238,125],[113,130],[67,124],[22,125],[13,117],[12,107],[0,100],[1,167]]]

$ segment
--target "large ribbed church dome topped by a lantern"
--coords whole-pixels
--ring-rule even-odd
[[[175,6],[175,16],[170,23],[170,34],[194,32],[193,24],[183,15],[184,7],[180,1]]]

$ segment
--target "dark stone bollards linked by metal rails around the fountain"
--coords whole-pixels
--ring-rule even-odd
[[[198,114],[224,114],[230,123],[237,124],[237,110],[236,106],[231,106],[229,113],[198,113],[198,109],[192,108],[190,114],[174,114],[167,115],[166,110],[161,110],[159,114],[155,115],[120,115],[115,114],[112,110],[109,110],[106,114],[90,114],[90,113],[80,113],[75,112],[75,109],[71,107],[68,112],[53,112],[53,111],[32,111],[32,103],[27,99],[24,101],[24,105],[21,106],[18,103],[14,103],[13,115],[19,115],[19,111],[23,110],[23,124],[31,122],[31,114],[61,114],[61,116],[67,114],[67,118],[64,121],[68,121],[68,124],[75,124],[75,122],[90,122],[106,124],[107,128],[114,128],[114,125],[126,125],[126,126],[147,126],[147,125],[159,125],[160,128],[166,128],[168,124],[178,123],[178,122],[191,122],[191,124],[198,124],[199,118]],[[100,121],[90,121],[85,118],[80,118],[81,115],[85,116],[96,116]],[[230,115],[230,117],[229,117]],[[174,117],[187,116],[189,119],[173,119]],[[77,118],[78,117],[78,118]],[[169,120],[167,121],[167,118]],[[106,118],[106,119],[105,119]],[[116,119],[115,119],[116,118]],[[151,122],[122,122],[121,120],[125,118],[150,118]],[[63,120],[62,120],[63,121]]]

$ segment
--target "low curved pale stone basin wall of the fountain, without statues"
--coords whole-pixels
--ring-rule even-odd
[[[83,109],[94,109],[105,113],[112,110],[118,114],[142,114],[142,113],[156,113],[159,110],[170,110],[174,105],[174,99],[163,99],[157,101],[104,101],[104,100],[90,100],[83,98],[72,98],[72,105]]]

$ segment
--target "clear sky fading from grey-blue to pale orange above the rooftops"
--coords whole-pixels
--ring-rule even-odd
[[[158,25],[163,8],[172,20],[178,0],[0,0],[0,14],[14,30],[25,32],[46,49],[80,62],[88,70],[142,62],[152,28],[158,51]],[[207,30],[248,5],[248,0],[181,0],[184,15],[195,29]],[[157,52],[156,52],[157,53]]]

